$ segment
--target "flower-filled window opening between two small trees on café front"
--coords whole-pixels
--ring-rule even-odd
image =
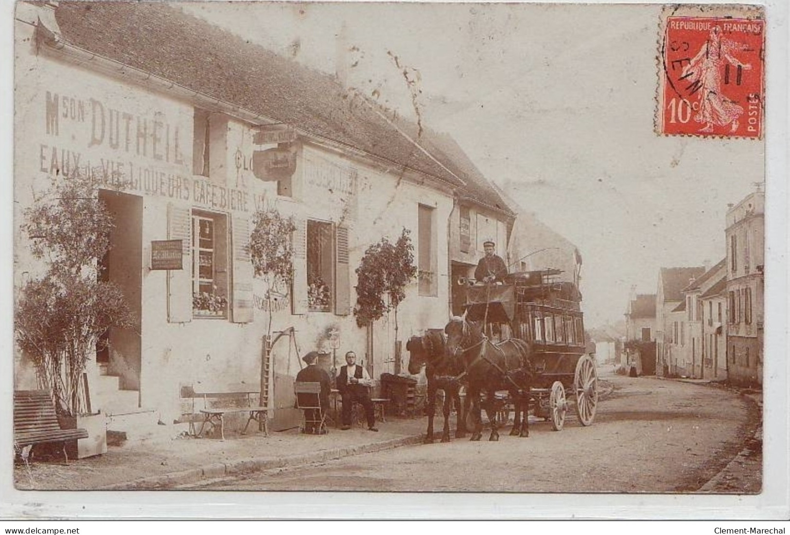
[[[333,297],[332,223],[307,221],[307,309],[331,312]]]

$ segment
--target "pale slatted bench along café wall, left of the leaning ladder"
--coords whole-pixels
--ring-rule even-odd
[[[257,396],[258,394],[258,391],[196,392],[193,387],[181,387],[181,397],[192,399],[192,412],[199,415],[198,421],[201,424],[200,430],[195,432],[195,422],[190,419],[190,435],[196,438],[201,436],[206,424],[211,425],[211,428],[220,425],[220,436],[222,440],[225,440],[225,414],[248,413],[249,417],[247,417],[242,434],[246,433],[251,421],[257,421],[258,431],[262,431],[265,436],[269,436],[269,428],[266,422],[269,407],[253,404],[253,395]],[[199,409],[198,412],[195,412],[195,399],[203,400],[203,408]],[[209,400],[211,403],[209,403]],[[209,406],[209,404],[212,406]]]

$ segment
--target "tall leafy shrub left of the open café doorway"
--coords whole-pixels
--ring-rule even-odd
[[[22,286],[14,331],[59,413],[85,409],[82,373],[103,333],[134,324],[119,286],[99,279],[114,226],[89,174],[59,178],[24,211],[22,230],[46,271]]]

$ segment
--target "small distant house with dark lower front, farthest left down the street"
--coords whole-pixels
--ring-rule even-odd
[[[634,290],[626,310],[626,350],[623,366],[631,365],[639,375],[656,372],[656,294],[636,294]]]

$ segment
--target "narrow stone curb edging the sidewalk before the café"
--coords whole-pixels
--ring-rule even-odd
[[[152,490],[156,488],[167,488],[179,484],[193,483],[203,478],[223,477],[226,475],[238,475],[240,473],[260,472],[276,468],[307,465],[313,462],[325,462],[337,458],[348,457],[349,455],[360,455],[364,453],[373,453],[374,451],[389,450],[396,447],[421,443],[424,437],[425,435],[423,433],[419,433],[418,435],[404,436],[384,442],[336,447],[331,450],[322,450],[310,454],[292,455],[283,458],[251,458],[232,462],[215,462],[202,466],[201,468],[193,468],[190,470],[182,470],[181,472],[165,473],[160,476],[142,477],[134,481],[109,484],[97,488],[96,490]]]

